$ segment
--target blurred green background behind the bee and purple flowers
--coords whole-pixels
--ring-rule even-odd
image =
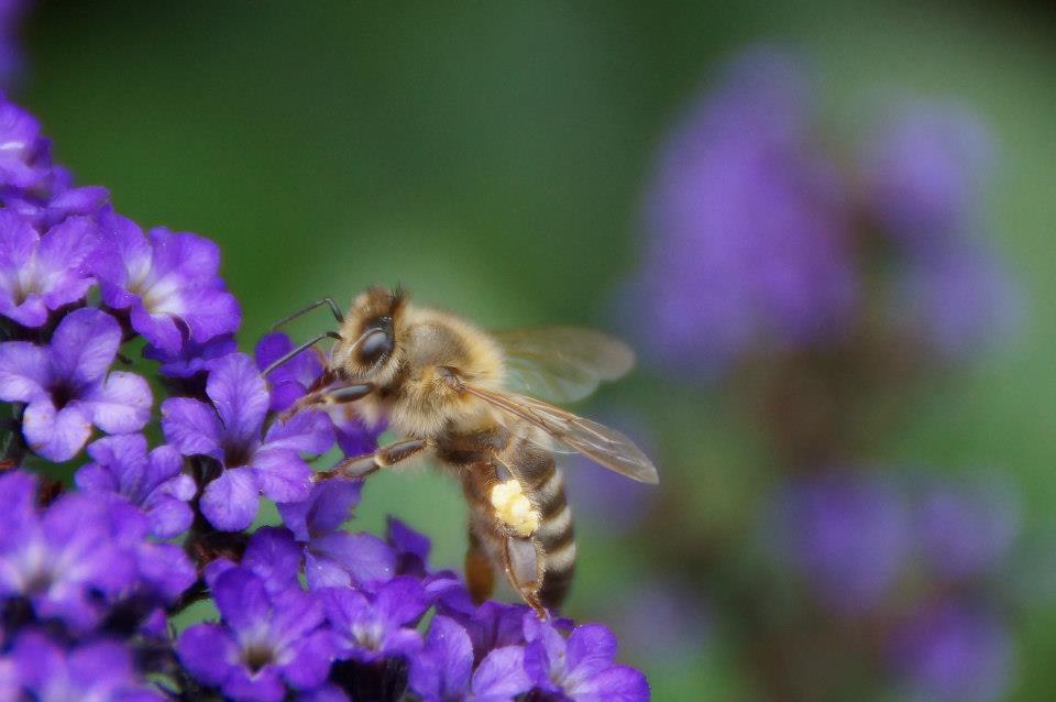
[[[1022,337],[908,402],[877,459],[1007,470],[1044,544],[1056,504],[1048,6],[44,2],[14,92],[80,183],[109,187],[144,226],[220,243],[244,348],[301,304],[371,283],[403,283],[486,326],[604,325],[635,265],[654,149],[717,62],[759,40],[812,56],[844,124],[911,92],[963,100],[992,128],[992,230],[1025,290]],[[320,314],[293,331],[324,323]],[[763,459],[716,398],[639,373],[602,401],[646,418],[662,476],[700,486],[679,528],[737,528]],[[453,483],[416,472],[372,481],[361,517],[376,530],[399,515],[435,539],[437,564],[458,567],[463,509]],[[667,547],[596,520],[581,533],[566,611],[609,616]],[[625,659],[657,700],[754,699],[737,623],[703,618],[679,649],[639,645]],[[1053,699],[1056,616],[1043,610],[1018,630],[1013,699]]]

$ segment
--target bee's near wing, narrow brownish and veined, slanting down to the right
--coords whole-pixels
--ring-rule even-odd
[[[557,441],[612,471],[641,483],[660,482],[657,468],[649,457],[618,431],[524,395],[465,384],[460,385],[460,388],[497,409],[539,427]]]

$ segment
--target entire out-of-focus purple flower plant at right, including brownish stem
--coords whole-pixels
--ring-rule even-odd
[[[800,57],[748,51],[662,142],[646,188],[624,318],[663,374],[722,381],[765,447],[748,480],[773,492],[725,533],[654,518],[673,551],[658,578],[714,593],[763,699],[993,702],[1028,604],[1008,575],[1014,486],[864,465],[904,421],[900,397],[1016,321],[985,239],[994,149],[954,103],[895,102],[855,138],[821,105]],[[668,465],[664,511],[723,476]]]

